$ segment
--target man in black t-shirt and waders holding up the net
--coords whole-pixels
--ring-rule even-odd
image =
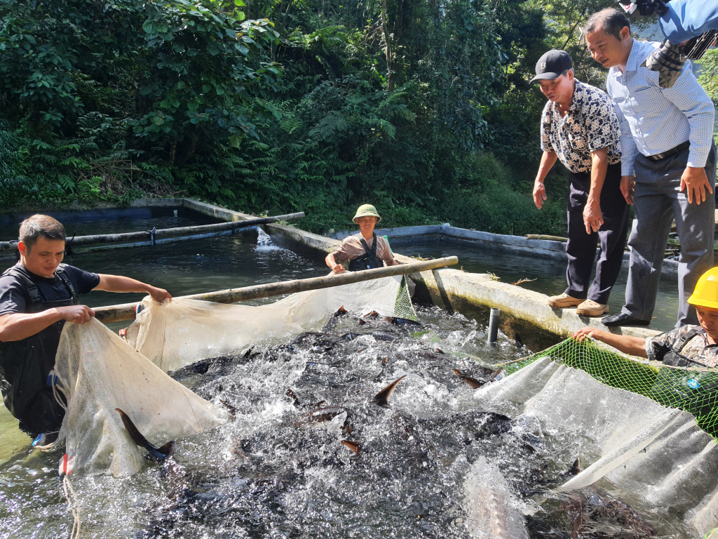
[[[65,321],[85,323],[95,313],[80,305],[90,290],[146,292],[159,302],[167,290],[129,277],[88,273],[60,264],[65,228],[34,215],[20,225],[20,262],[0,277],[0,390],[7,409],[31,435],[58,430],[65,414],[52,392],[55,354]]]

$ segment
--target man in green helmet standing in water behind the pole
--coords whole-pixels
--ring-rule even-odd
[[[325,259],[332,272],[343,272],[342,262],[346,260],[352,272],[383,267],[385,262],[387,266],[396,266],[398,262],[391,256],[389,242],[374,232],[374,227],[381,221],[376,208],[371,204],[359,206],[353,221],[359,225],[359,234],[347,236]]]

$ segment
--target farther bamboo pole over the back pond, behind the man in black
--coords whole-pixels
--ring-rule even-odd
[[[246,221],[228,221],[226,223],[215,223],[209,225],[197,226],[177,226],[174,229],[159,229],[154,231],[154,237],[171,238],[176,236],[185,236],[187,234],[212,233],[223,230],[241,229],[246,226],[258,226],[261,224],[276,223],[276,221],[292,221],[304,217],[304,212],[288,213],[286,215],[278,215],[273,217],[261,217],[257,219],[247,219]],[[96,234],[95,236],[76,236],[68,238],[65,242],[67,247],[75,247],[76,245],[86,244],[110,244],[121,241],[137,241],[151,240],[152,231],[141,232],[124,232],[122,234]],[[17,242],[0,241],[0,251],[17,250]]]

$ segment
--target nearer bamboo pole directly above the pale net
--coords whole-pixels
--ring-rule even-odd
[[[218,292],[206,292],[204,294],[192,294],[181,296],[189,300],[213,301],[215,303],[238,303],[240,301],[257,300],[259,298],[271,298],[277,295],[292,294],[294,292],[306,292],[307,290],[318,290],[334,286],[350,285],[353,282],[381,279],[393,275],[408,275],[409,273],[426,272],[437,270],[440,267],[453,266],[458,264],[457,257],[437,258],[426,262],[410,262],[398,266],[378,267],[375,270],[363,270],[361,272],[345,272],[339,275],[326,275],[324,277],[312,277],[311,279],[295,279],[292,281],[269,282],[264,285],[254,285],[243,288],[230,288],[229,290],[218,290]],[[124,303],[123,305],[108,305],[98,307],[95,311],[95,318],[104,323],[132,320],[135,317],[136,303]]]

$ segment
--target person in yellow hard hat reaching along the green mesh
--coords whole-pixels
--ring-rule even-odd
[[[688,298],[696,308],[699,326],[681,326],[661,335],[640,338],[615,335],[595,328],[581,328],[574,333],[577,341],[593,337],[625,354],[663,361],[668,365],[718,366],[718,267],[705,272]]]

